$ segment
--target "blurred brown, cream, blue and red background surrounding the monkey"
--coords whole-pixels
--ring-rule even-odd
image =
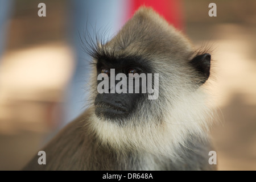
[[[108,40],[142,3],[0,0],[0,170],[21,169],[86,108],[90,57],[78,32],[92,35],[94,27]],[[147,3],[196,47],[213,49],[205,86],[221,116],[211,133],[218,169],[256,170],[256,1]]]

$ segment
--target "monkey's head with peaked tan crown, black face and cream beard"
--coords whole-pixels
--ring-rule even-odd
[[[211,111],[201,85],[210,75],[209,53],[198,53],[180,31],[146,7],[112,40],[92,47],[89,125],[102,144],[170,154],[189,134],[204,136]]]

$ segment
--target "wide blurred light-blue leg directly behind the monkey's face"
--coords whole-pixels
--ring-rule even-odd
[[[125,23],[126,3],[126,0],[75,0],[69,2],[72,16],[69,19],[71,21],[69,31],[76,55],[76,67],[67,88],[63,125],[80,115],[88,104],[86,97],[89,92],[91,58],[82,49],[79,33],[81,36],[91,35],[95,40],[95,32],[101,35],[105,31],[103,40],[110,39]]]

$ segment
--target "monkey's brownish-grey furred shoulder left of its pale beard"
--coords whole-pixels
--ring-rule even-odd
[[[22,170],[79,170],[83,169],[85,146],[90,140],[86,135],[87,111],[52,138],[42,151],[46,152],[46,164],[39,164],[35,155]],[[86,155],[86,154],[85,154]]]

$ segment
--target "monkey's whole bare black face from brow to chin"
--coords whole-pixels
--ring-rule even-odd
[[[97,117],[122,123],[136,113],[139,103],[147,97],[147,73],[151,70],[142,63],[140,57],[104,56],[98,59],[97,75],[102,74],[105,81],[102,85],[103,81],[97,80],[98,89],[105,92],[98,93],[95,98]]]

